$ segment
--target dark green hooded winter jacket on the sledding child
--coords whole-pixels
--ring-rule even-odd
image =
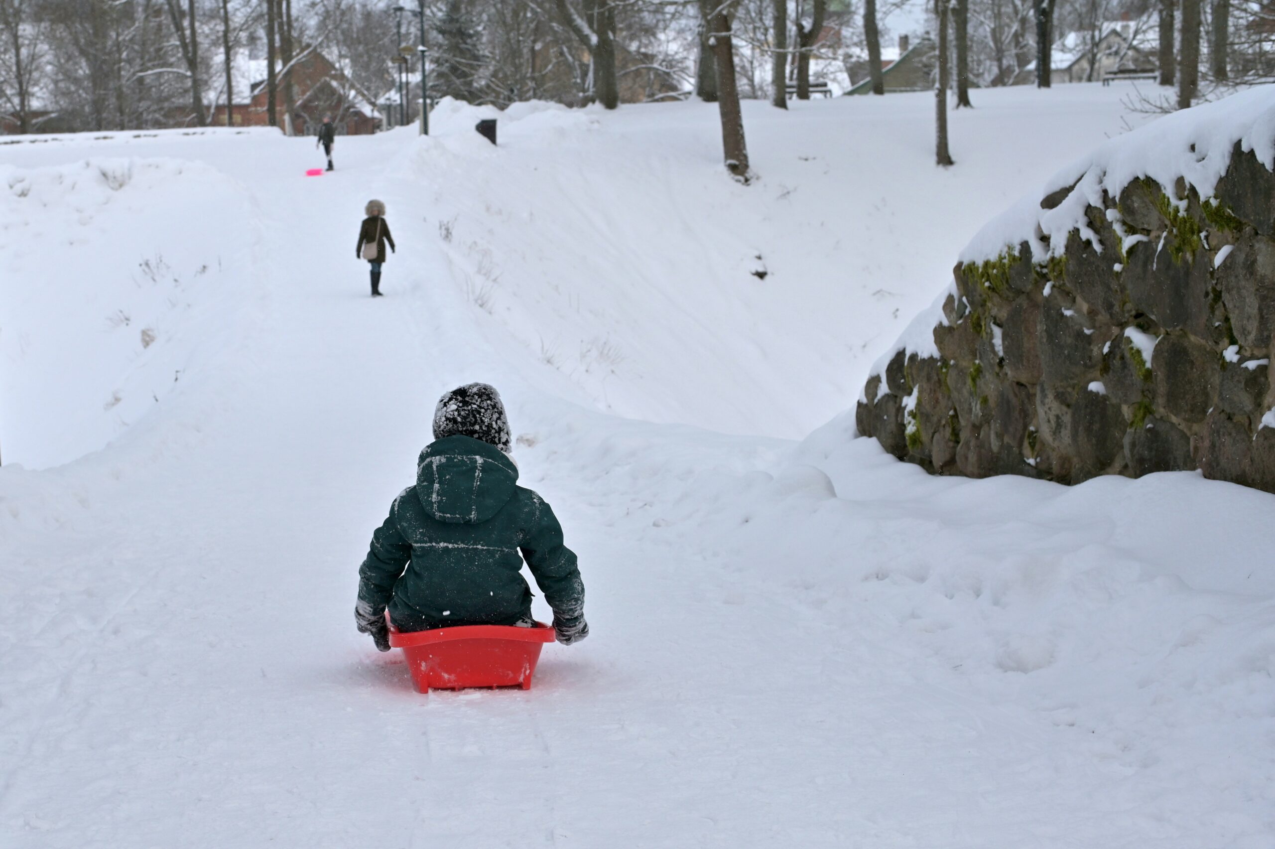
[[[388,606],[400,631],[514,625],[532,611],[524,557],[555,614],[580,616],[584,584],[553,511],[500,449],[449,436],[421,451],[416,486],[372,534],[358,599],[372,614]]]

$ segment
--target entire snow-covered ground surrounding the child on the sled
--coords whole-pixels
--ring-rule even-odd
[[[946,172],[929,96],[750,103],[747,189],[700,105],[496,149],[445,111],[319,178],[264,134],[0,148],[0,449],[43,469],[0,469],[0,845],[1270,846],[1275,498],[825,424],[1126,93],[979,92]],[[425,697],[356,569],[468,380],[593,636]]]

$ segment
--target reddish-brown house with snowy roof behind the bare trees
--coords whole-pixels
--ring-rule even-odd
[[[269,126],[265,60],[249,59],[246,54],[236,56],[231,65],[231,80],[235,87],[235,126]],[[208,99],[217,106],[208,122],[226,126],[224,76],[221,80],[210,79],[209,83],[219,84],[221,88],[209,93]],[[292,66],[292,87],[296,98],[292,126],[296,135],[317,134],[324,117],[332,117],[337,133],[343,135],[367,135],[375,133],[381,122],[372,98],[317,50]],[[283,79],[279,78],[275,113],[280,127],[284,126],[286,112]]]

